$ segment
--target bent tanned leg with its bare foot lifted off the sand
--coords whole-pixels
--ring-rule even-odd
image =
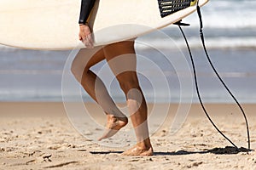
[[[102,80],[93,71],[90,71],[92,65],[96,65],[103,59],[105,59],[105,55],[101,48],[81,49],[72,65],[73,75],[90,97],[101,105],[107,115],[108,130],[99,140],[113,136],[128,123],[127,117],[114,104]]]

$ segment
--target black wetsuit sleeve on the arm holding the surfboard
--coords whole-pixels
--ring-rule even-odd
[[[82,0],[79,24],[85,24],[96,0]]]

